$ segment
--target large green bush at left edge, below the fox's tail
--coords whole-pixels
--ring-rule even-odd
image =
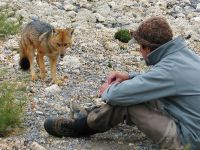
[[[2,77],[2,71],[0,72]],[[0,137],[7,136],[23,121],[26,88],[16,81],[0,79]]]

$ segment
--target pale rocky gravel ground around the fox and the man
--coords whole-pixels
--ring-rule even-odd
[[[9,78],[22,77],[27,83],[30,102],[24,131],[0,139],[0,149],[156,149],[136,127],[119,125],[88,138],[55,138],[43,128],[49,116],[65,116],[70,101],[84,107],[98,104],[98,88],[112,70],[144,71],[146,68],[136,44],[114,39],[118,29],[136,29],[150,16],[165,16],[175,36],[200,52],[199,0],[1,0],[0,10],[8,9],[12,19],[23,18],[22,27],[36,18],[57,28],[75,29],[74,44],[59,60],[58,74],[63,85],[50,82],[47,65],[45,81],[32,82],[28,72],[19,69],[17,52],[20,34],[0,41],[0,67],[9,70]],[[38,71],[38,70],[37,70]]]

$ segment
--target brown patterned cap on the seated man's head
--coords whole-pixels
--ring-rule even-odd
[[[143,21],[136,31],[131,32],[133,38],[144,48],[151,51],[172,40],[173,32],[166,19],[151,17]]]

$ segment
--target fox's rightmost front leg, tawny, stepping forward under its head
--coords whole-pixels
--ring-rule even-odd
[[[62,81],[57,79],[56,77],[56,63],[57,63],[57,57],[56,58],[50,58],[50,65],[51,65],[51,76],[52,81],[56,84],[61,84]]]

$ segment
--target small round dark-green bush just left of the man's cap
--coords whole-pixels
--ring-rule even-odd
[[[121,29],[115,33],[115,39],[121,42],[128,43],[131,40],[131,34],[127,29]]]

